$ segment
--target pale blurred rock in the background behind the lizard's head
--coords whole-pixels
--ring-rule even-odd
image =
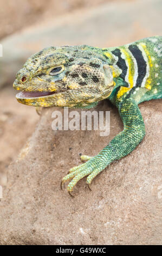
[[[110,47],[160,35],[161,11],[161,0],[106,3],[43,20],[15,33],[1,41],[0,87],[11,84],[27,58],[44,47],[79,44]]]

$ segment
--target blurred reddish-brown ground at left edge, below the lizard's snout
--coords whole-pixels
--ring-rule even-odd
[[[16,90],[1,89],[0,100],[0,185],[7,184],[10,162],[16,161],[28,137],[32,135],[39,117],[33,107],[18,104]]]

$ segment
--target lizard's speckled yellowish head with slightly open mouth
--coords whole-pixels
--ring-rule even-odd
[[[44,48],[17,72],[17,101],[35,107],[87,107],[106,99],[114,83],[101,53],[87,45]]]

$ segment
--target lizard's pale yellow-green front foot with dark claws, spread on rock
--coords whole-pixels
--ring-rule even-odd
[[[89,187],[95,176],[98,175],[107,166],[107,164],[105,164],[103,160],[101,161],[98,157],[88,157],[88,159],[89,160],[86,163],[82,163],[79,166],[75,166],[69,170],[69,173],[64,176],[61,181],[61,188],[66,181],[71,180],[68,184],[67,190],[68,192],[72,192],[76,183],[87,175],[88,177],[86,183]],[[89,190],[91,190],[90,187]]]

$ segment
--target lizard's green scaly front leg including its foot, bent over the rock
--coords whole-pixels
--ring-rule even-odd
[[[98,155],[70,169],[69,174],[64,176],[61,182],[63,184],[72,179],[67,187],[68,192],[72,192],[76,183],[87,175],[86,182],[89,185],[108,164],[131,153],[144,138],[145,125],[137,103],[131,98],[123,97],[116,101],[116,106],[124,124],[124,130],[116,135]]]

